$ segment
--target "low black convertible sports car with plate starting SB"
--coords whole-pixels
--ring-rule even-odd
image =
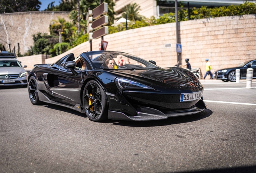
[[[71,53],[51,65],[36,65],[28,91],[33,105],[61,105],[91,121],[158,120],[207,109],[204,87],[192,72],[161,68],[124,52],[92,51],[78,58]]]

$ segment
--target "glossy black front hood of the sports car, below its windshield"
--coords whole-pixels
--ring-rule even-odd
[[[153,88],[175,88],[179,90],[201,91],[203,86],[194,74],[184,68],[159,68],[145,70],[113,70],[120,76],[143,82]],[[159,88],[160,89],[160,88]],[[162,90],[162,89],[161,89]]]

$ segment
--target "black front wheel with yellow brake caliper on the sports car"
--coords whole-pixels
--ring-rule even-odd
[[[107,97],[98,82],[90,80],[83,92],[83,105],[91,121],[107,119]]]

